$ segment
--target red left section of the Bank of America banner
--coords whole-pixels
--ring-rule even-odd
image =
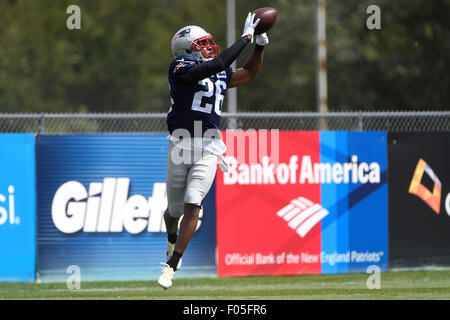
[[[292,203],[321,203],[320,183],[299,181],[300,161],[320,162],[319,132],[236,131],[223,138],[230,170],[216,179],[218,275],[320,273],[321,223],[299,231],[283,216]]]

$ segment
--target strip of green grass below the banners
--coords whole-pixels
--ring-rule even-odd
[[[381,274],[381,288],[369,290],[370,274],[175,279],[167,291],[156,281],[0,283],[0,299],[183,299],[338,300],[450,299],[450,270]]]

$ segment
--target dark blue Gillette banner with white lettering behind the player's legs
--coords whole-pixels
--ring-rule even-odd
[[[166,261],[166,135],[37,137],[38,275],[156,279]],[[179,277],[216,275],[214,186]]]

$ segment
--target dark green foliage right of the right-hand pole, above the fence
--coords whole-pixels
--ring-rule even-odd
[[[382,28],[374,31],[365,27],[373,1],[338,3],[328,7],[333,109],[450,107],[450,1],[379,0]]]

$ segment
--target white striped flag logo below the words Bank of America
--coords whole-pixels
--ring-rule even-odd
[[[320,204],[299,197],[278,211],[277,216],[287,221],[288,226],[303,238],[328,213],[329,211]]]

